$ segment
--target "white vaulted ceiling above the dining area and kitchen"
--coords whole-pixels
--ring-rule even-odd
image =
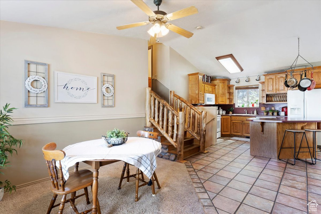
[[[152,0],[144,2],[157,10]],[[160,10],[171,13],[191,5],[199,13],[170,22],[194,36],[187,39],[169,32],[160,42],[175,49],[200,72],[234,78],[282,70],[298,55],[298,36],[300,55],[313,65],[321,64],[321,1],[163,0]],[[146,40],[151,27],[116,29],[148,21],[129,0],[1,0],[0,19]],[[203,29],[196,30],[197,26]],[[242,73],[229,74],[215,59],[226,54],[236,57]]]

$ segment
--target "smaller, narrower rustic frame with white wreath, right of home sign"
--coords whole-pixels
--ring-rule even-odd
[[[109,73],[100,73],[100,88],[101,107],[115,107],[115,75]],[[109,93],[108,89],[110,90]],[[106,101],[107,105],[105,104]]]

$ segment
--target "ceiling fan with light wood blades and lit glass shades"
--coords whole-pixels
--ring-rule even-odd
[[[143,2],[143,0],[131,0],[131,1],[149,16],[149,21],[142,21],[142,22],[137,22],[133,24],[118,26],[117,27],[118,30],[124,30],[127,28],[133,28],[133,27],[143,26],[143,25],[152,23],[154,24],[154,26],[147,31],[151,35],[149,44],[156,43],[156,38],[165,36],[169,32],[169,30],[174,31],[175,33],[178,33],[186,38],[190,38],[193,36],[193,33],[187,30],[184,30],[183,28],[177,27],[171,23],[168,23],[167,21],[183,18],[185,16],[198,13],[197,8],[195,6],[190,6],[185,9],[167,14],[164,11],[159,10],[159,6],[162,3],[162,0],[154,0],[154,4],[157,6],[156,11],[152,11]]]

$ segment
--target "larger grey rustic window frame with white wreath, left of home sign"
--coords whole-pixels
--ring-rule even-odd
[[[29,64],[36,65],[36,71],[29,71]],[[38,72],[37,65],[44,66],[45,71]],[[31,75],[31,73],[35,73],[35,75]],[[45,77],[43,78],[39,76],[38,73],[43,73]],[[24,107],[48,107],[48,64],[24,60],[24,77]],[[42,87],[39,90],[37,90],[37,88],[33,88],[31,86],[32,81],[40,81]],[[44,93],[44,96],[39,96],[39,93]],[[30,97],[36,97],[36,104],[30,103]],[[40,97],[44,97],[44,104],[38,104],[38,98]]]

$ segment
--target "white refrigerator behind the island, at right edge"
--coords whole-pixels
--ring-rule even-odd
[[[321,89],[288,90],[288,117],[321,118]],[[321,133],[317,133],[321,145]]]

